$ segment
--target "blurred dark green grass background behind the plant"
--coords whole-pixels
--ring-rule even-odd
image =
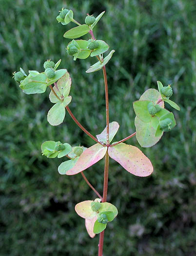
[[[142,151],[154,173],[134,177],[110,160],[108,200],[119,215],[105,232],[104,256],[196,255],[196,1],[195,0],[0,0],[0,255],[95,256],[74,206],[96,198],[80,175],[60,176],[62,159],[41,156],[45,140],[91,146],[69,117],[52,127],[48,94],[25,95],[12,79],[22,67],[43,71],[46,59],[62,59],[73,81],[70,108],[93,134],[105,127],[102,72],[86,74],[95,59],[73,61],[63,33],[74,24],[56,21],[62,6],[83,22],[97,16],[95,35],[116,52],[107,65],[110,121],[116,140],[135,131],[132,102],[156,81],[172,84],[181,111],[177,126]],[[84,38],[89,38],[85,36]],[[172,110],[168,105],[167,108]],[[139,147],[135,138],[127,141]],[[139,147],[140,148],[140,147]],[[103,160],[85,171],[102,191]]]

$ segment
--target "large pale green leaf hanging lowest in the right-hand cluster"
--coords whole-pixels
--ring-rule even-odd
[[[158,137],[155,137],[156,129],[152,125],[152,122],[155,120],[155,118],[156,117],[152,118],[152,121],[149,123],[142,122],[137,117],[135,118],[136,138],[141,147],[152,147],[160,140],[163,135],[162,132]]]

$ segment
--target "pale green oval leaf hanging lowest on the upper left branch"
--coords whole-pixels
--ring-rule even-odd
[[[49,111],[47,115],[48,122],[55,126],[63,122],[65,118],[65,108],[61,102],[56,103]]]

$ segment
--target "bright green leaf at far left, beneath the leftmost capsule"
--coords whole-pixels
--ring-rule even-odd
[[[20,88],[26,94],[44,93],[46,91],[46,76],[38,74],[37,76],[29,75],[20,83]]]

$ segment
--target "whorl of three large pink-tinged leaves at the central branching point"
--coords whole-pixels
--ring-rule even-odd
[[[110,123],[110,142],[116,135],[119,125],[117,122]],[[106,128],[103,132],[97,135],[100,142],[106,143]],[[102,159],[106,152],[111,158],[116,160],[129,173],[145,177],[153,172],[151,161],[137,148],[132,145],[120,143],[115,146],[106,147],[99,143],[86,149],[80,157],[73,160],[68,160],[59,165],[58,171],[60,174],[75,175]]]

